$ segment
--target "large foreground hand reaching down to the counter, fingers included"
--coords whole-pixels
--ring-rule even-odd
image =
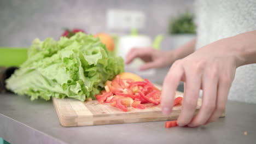
[[[173,63],[162,89],[161,107],[171,113],[175,91],[184,81],[184,99],[178,125],[197,127],[216,121],[225,110],[229,89],[236,68],[241,65],[238,49],[231,46],[234,39],[222,39],[206,45],[188,57]],[[200,88],[202,106],[195,117]]]

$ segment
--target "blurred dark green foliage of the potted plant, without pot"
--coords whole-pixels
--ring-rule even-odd
[[[196,25],[193,19],[194,15],[189,11],[172,18],[169,23],[169,34],[195,34]]]

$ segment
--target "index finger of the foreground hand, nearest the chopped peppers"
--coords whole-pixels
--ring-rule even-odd
[[[169,115],[171,113],[176,89],[182,79],[182,76],[184,75],[183,67],[177,63],[178,62],[176,61],[172,65],[163,83],[161,109],[164,115]]]

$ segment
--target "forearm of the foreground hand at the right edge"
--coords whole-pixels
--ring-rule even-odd
[[[234,41],[237,67],[256,63],[256,30],[235,35],[230,40]]]

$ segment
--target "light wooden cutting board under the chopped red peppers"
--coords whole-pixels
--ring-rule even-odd
[[[183,97],[182,92],[177,92],[176,97]],[[121,111],[109,104],[99,104],[98,101],[79,101],[75,99],[56,99],[53,103],[63,127],[77,127],[85,125],[137,123],[152,121],[169,121],[177,119],[181,112],[181,105],[174,106],[172,113],[165,116],[160,105],[146,104],[146,109],[129,107],[128,112]],[[199,98],[195,114],[202,104]],[[222,117],[224,117],[224,113]]]

